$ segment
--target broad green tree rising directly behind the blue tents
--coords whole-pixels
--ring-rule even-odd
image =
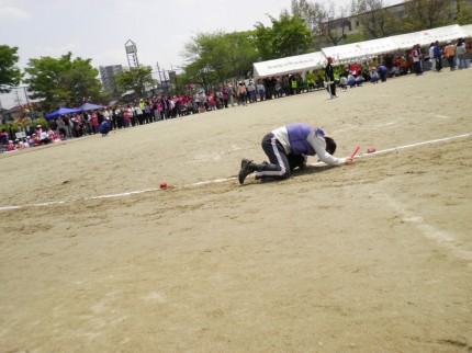
[[[30,98],[42,101],[45,111],[58,106],[79,106],[83,99],[100,101],[101,83],[91,59],[71,60],[69,52],[59,59],[42,57],[30,59],[25,72],[29,78]]]

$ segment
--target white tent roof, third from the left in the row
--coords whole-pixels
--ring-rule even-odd
[[[439,29],[395,35],[391,38],[396,43],[398,49],[407,49],[412,48],[415,44],[428,45],[436,41],[454,41],[464,36],[467,36],[467,33],[462,27],[459,24],[453,24]]]

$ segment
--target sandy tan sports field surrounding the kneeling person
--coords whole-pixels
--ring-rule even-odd
[[[0,351],[471,352],[471,92],[427,72],[0,156]],[[360,153],[240,186],[292,123]]]

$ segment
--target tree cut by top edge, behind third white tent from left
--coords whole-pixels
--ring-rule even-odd
[[[450,0],[413,0],[405,2],[404,32],[436,29],[454,23],[456,5]]]

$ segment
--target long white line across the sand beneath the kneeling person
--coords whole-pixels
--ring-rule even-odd
[[[451,137],[445,137],[445,138],[438,138],[438,139],[432,139],[432,140],[412,144],[412,145],[387,148],[387,149],[379,150],[379,151],[368,153],[368,155],[356,156],[355,158],[362,158],[362,157],[369,157],[369,156],[374,156],[374,155],[381,155],[381,153],[386,153],[386,152],[407,149],[407,148],[414,148],[414,147],[424,146],[424,145],[431,145],[431,144],[443,143],[443,141],[458,139],[458,138],[465,138],[465,137],[470,137],[470,136],[472,136],[472,133],[451,136]],[[310,163],[308,166],[321,166],[321,164],[324,164],[324,163],[317,162],[317,163]],[[195,182],[192,184],[183,185],[183,187],[193,187],[193,186],[200,186],[200,185],[223,183],[223,182],[231,181],[234,179],[236,179],[236,176]],[[125,197],[125,196],[131,196],[131,195],[136,195],[136,194],[144,194],[144,193],[156,192],[156,191],[161,191],[161,190],[162,189],[154,187],[154,189],[146,189],[146,190],[136,190],[136,191],[131,191],[131,192],[125,192],[125,193],[120,193],[120,194],[89,196],[89,197],[76,198],[76,200],[69,200],[69,201],[50,201],[50,202],[44,202],[44,203],[38,203],[38,204],[29,204],[29,205],[0,206],[0,210],[20,209],[20,208],[26,208],[26,207],[44,207],[44,206],[70,204],[70,203],[75,203],[75,202],[83,202],[83,201],[90,201],[90,200],[119,198],[119,197]]]

